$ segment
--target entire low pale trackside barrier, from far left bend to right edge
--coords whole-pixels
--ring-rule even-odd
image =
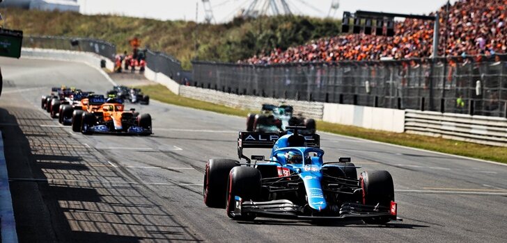
[[[84,62],[92,67],[97,67],[101,72],[104,71],[99,68],[100,61],[106,60],[107,69],[114,69],[113,62],[94,53],[24,48],[22,49],[22,58],[24,57]],[[263,103],[273,103],[276,105],[279,103],[286,103],[287,105],[293,106],[295,112],[301,113],[304,117],[336,124],[359,126],[362,128],[371,128],[394,133],[418,133],[464,140],[467,142],[476,142],[479,144],[507,146],[507,119],[500,117],[478,117],[455,115],[452,113],[396,110],[337,103],[253,97],[229,94],[217,90],[208,90],[201,87],[180,85],[168,76],[153,72],[153,70],[148,68],[144,75],[148,80],[160,83],[182,97],[208,101],[232,108],[259,110]],[[456,119],[456,117],[460,119]],[[477,123],[475,121],[481,122]],[[463,124],[467,124],[466,128]],[[494,126],[492,124],[494,124]]]

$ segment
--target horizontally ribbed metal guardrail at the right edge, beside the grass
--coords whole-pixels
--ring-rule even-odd
[[[507,119],[405,110],[405,131],[493,146],[507,146]]]

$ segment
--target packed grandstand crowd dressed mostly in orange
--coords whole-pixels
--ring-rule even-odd
[[[430,15],[435,15],[431,13]],[[507,0],[458,0],[439,9],[439,56],[507,53]],[[396,22],[393,37],[347,34],[259,53],[241,63],[335,62],[426,58],[432,55],[433,22]]]

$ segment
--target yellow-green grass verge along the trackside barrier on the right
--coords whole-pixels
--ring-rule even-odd
[[[249,110],[230,108],[210,102],[180,97],[163,85],[146,85],[141,86],[140,88],[145,94],[150,95],[150,98],[164,103],[171,103],[176,106],[187,106],[240,117],[246,117],[247,114],[251,112]],[[507,149],[505,147],[487,146],[470,142],[446,140],[441,137],[428,137],[409,133],[389,133],[373,129],[359,128],[357,126],[333,124],[325,121],[317,121],[317,128],[320,131],[329,133],[360,137],[367,140],[387,142],[389,144],[410,146],[442,153],[450,153],[458,156],[467,156],[471,158],[507,163]]]

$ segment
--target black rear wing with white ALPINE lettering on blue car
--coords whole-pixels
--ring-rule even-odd
[[[250,161],[243,155],[243,149],[272,149],[274,143],[287,133],[256,133],[240,132],[237,137],[237,156]],[[297,134],[296,134],[297,135]],[[306,146],[320,148],[320,136],[318,134],[299,134],[304,137]]]

